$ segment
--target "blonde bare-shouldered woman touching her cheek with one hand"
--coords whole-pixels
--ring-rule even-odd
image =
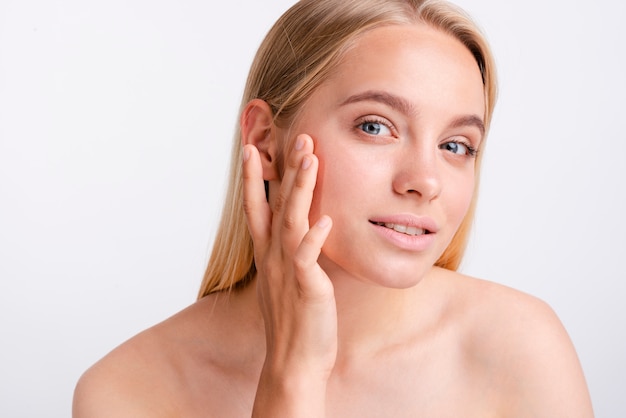
[[[199,300],[88,370],[75,417],[592,416],[550,308],[455,271],[494,99],[447,3],[293,6],[252,65]]]

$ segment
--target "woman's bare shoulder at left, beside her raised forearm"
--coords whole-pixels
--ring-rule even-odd
[[[223,298],[209,296],[115,348],[79,379],[74,418],[219,416],[212,397],[222,396],[221,386],[233,379],[224,365],[235,357],[253,362],[238,348],[249,347],[249,340],[237,339],[254,333],[225,332],[237,326],[228,309]]]

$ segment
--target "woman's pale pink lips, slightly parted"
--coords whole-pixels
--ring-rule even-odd
[[[390,242],[392,245],[408,251],[424,251],[431,247],[435,241],[435,236],[439,231],[437,223],[425,216],[415,216],[410,214],[377,216],[369,220],[374,230]],[[427,233],[421,235],[407,235],[378,224],[397,224],[408,227],[423,229]]]

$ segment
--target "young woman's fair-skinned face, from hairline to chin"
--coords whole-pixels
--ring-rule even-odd
[[[359,40],[290,130],[320,160],[310,220],[333,219],[330,277],[404,288],[433,266],[472,199],[484,107],[476,60],[451,36],[390,26]]]

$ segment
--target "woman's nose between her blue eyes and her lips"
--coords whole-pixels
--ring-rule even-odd
[[[415,195],[431,201],[441,193],[441,177],[435,149],[413,146],[399,150],[393,189],[401,195]]]

